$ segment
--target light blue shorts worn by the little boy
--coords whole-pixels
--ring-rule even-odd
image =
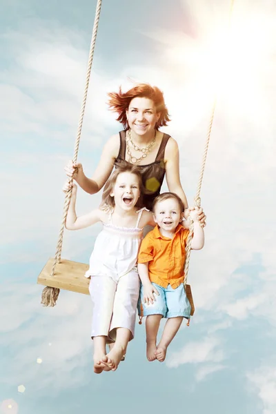
[[[183,316],[186,319],[190,318],[191,307],[183,283],[175,289],[172,289],[170,285],[167,288],[162,288],[153,282],[152,285],[157,288],[159,295],[153,293],[156,301],[153,304],[145,304],[143,301],[144,286],[141,285],[138,301],[139,316],[163,315],[163,317]]]

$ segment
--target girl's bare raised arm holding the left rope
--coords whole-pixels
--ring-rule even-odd
[[[72,195],[71,195],[68,213],[66,217],[65,227],[68,230],[79,230],[80,228],[86,228],[86,227],[92,226],[92,224],[95,224],[98,221],[101,221],[103,219],[102,216],[105,213],[99,210],[99,208],[97,210],[92,210],[91,213],[88,213],[81,217],[77,217],[76,200],[77,200],[77,186],[75,184],[72,188]]]

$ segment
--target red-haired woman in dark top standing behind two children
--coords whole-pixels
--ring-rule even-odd
[[[119,93],[111,92],[108,96],[109,107],[119,115],[117,121],[123,124],[124,130],[108,139],[92,178],[86,177],[81,164],[72,162],[65,168],[66,175],[73,177],[86,193],[95,194],[106,184],[114,166],[126,160],[139,166],[143,177],[145,194],[139,200],[140,206],[151,210],[166,176],[168,190],[181,198],[187,218],[189,209],[180,183],[178,145],[170,135],[159,130],[170,121],[163,93],[156,86],[140,83],[126,93],[119,88]],[[202,227],[206,225],[205,220],[201,210]]]

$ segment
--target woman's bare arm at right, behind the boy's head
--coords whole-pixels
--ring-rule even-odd
[[[188,201],[181,186],[179,175],[179,149],[177,141],[170,137],[164,154],[166,181],[170,193],[177,194],[183,201],[184,207],[188,208]]]

